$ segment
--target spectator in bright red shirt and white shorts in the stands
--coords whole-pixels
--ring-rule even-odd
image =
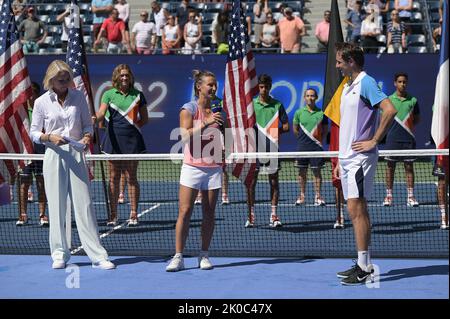
[[[101,43],[105,32],[108,40],[108,47],[106,49],[107,53],[122,53],[124,47],[128,47],[127,37],[125,34],[125,24],[122,19],[119,19],[119,11],[117,11],[117,9],[112,9],[109,18],[103,21],[97,40],[94,42],[94,51],[95,48]]]

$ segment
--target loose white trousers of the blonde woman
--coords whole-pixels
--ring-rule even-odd
[[[68,144],[47,145],[43,173],[48,200],[52,259],[65,262],[70,259],[70,247],[65,231],[67,198],[69,198],[84,251],[94,263],[107,260],[108,253],[100,244],[97,219],[92,209],[90,182],[84,154],[74,150]]]

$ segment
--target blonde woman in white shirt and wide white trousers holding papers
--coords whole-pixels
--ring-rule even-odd
[[[67,141],[70,138],[88,145],[93,131],[84,94],[69,89],[72,80],[72,70],[65,62],[50,63],[44,78],[44,88],[48,91],[35,101],[30,130],[33,141],[46,146],[43,174],[50,217],[52,268],[63,269],[70,259],[64,226],[69,197],[81,244],[92,266],[113,269],[115,266],[108,260],[98,236],[84,152]]]

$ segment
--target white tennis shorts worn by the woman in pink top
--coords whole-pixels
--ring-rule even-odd
[[[211,190],[222,187],[222,166],[197,167],[183,164],[180,184],[198,190]]]

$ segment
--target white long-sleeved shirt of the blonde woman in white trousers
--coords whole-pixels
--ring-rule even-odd
[[[77,141],[86,133],[92,134],[91,115],[84,94],[69,89],[62,106],[52,90],[37,98],[34,102],[30,128],[33,142],[42,144],[40,140],[42,129],[46,134],[68,136]]]

